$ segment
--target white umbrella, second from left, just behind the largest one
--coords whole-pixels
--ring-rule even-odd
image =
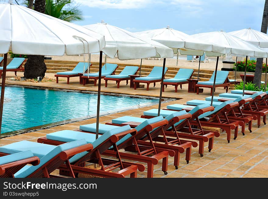
[[[131,33],[127,30],[109,25],[105,23],[104,20],[102,20],[101,23],[90,24],[84,27],[104,35],[106,45],[103,48],[103,52],[108,57],[114,58],[115,55],[117,54],[119,60],[142,59],[147,57],[164,58],[163,71],[162,71],[162,84],[159,98],[159,106],[161,106],[165,62],[166,58],[173,57],[174,55],[173,50],[151,39],[142,38],[135,33]],[[99,74],[101,74],[101,68],[99,69]],[[100,76],[98,86],[99,89],[101,89]],[[99,102],[97,106],[99,112]],[[99,123],[98,112],[97,112],[96,136],[98,136],[98,123]],[[160,108],[159,108],[159,114],[160,114]]]

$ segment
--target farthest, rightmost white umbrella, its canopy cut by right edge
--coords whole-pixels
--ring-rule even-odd
[[[265,48],[268,48],[268,35],[263,32],[260,32],[258,30],[254,30],[251,28],[246,28],[246,29],[229,32],[229,34],[237,36],[240,39],[243,39],[249,43],[252,43],[253,45],[258,46],[262,50],[267,52],[267,49]],[[266,58],[266,65],[267,65],[267,58]],[[236,72],[236,67],[235,67],[235,72]],[[267,75],[267,71],[265,72],[265,85],[267,86],[266,75]]]

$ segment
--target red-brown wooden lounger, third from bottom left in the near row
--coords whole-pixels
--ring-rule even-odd
[[[126,175],[130,175],[130,177],[136,177],[137,169],[139,169],[139,171],[144,171],[145,167],[139,163],[122,161],[122,156],[118,152],[118,147],[116,146],[118,143],[122,143],[124,140],[135,134],[136,130],[131,129],[130,126],[111,129],[105,132],[103,135],[99,136],[98,139],[96,139],[96,135],[92,133],[63,130],[49,133],[46,137],[40,138],[37,141],[41,143],[58,145],[80,138],[86,139],[87,143],[91,143],[93,145],[93,149],[89,153],[81,154],[79,159],[71,162],[72,170],[76,175],[78,173],[85,173],[100,177],[125,177]],[[118,160],[102,157],[102,155],[104,155],[104,152],[108,149],[115,152],[115,157],[117,157]],[[96,170],[85,168],[84,166],[86,162],[98,163],[101,166],[101,169]],[[120,168],[120,170],[117,172],[111,172],[117,168]],[[66,166],[61,166],[60,174],[66,175],[66,172],[68,172],[67,169],[68,168]]]

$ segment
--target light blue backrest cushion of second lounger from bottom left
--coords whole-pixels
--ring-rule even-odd
[[[30,141],[28,141],[28,142],[30,142]],[[18,143],[18,142],[15,142],[15,143]],[[42,149],[45,145],[47,145],[47,144],[42,144],[42,143],[37,143],[37,144],[39,144],[40,149]],[[72,148],[75,148],[78,146],[82,146],[84,144],[86,144],[86,140],[80,139],[80,140],[76,140],[74,142],[67,142],[67,143],[58,145],[54,149],[52,149],[49,153],[47,153],[44,157],[42,157],[40,159],[40,163],[37,166],[30,166],[30,167],[27,167],[26,169],[19,170],[17,173],[15,173],[14,176],[16,178],[27,177],[31,173],[33,173],[34,171],[39,169],[41,166],[43,166],[45,163],[47,163],[49,160],[51,160],[53,157],[55,157],[56,155],[61,153],[62,151],[72,149]],[[31,144],[29,143],[29,145],[31,145]],[[29,147],[29,149],[30,149],[30,147]],[[77,154],[77,155],[79,155],[79,154]],[[72,158],[76,158],[77,155],[73,156]]]

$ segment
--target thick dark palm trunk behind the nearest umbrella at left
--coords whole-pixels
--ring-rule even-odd
[[[37,12],[45,13],[45,4],[45,0],[35,0],[34,10]],[[27,57],[27,62],[24,65],[24,78],[35,79],[37,77],[44,77],[45,72],[47,71],[47,66],[44,63],[44,56],[28,55]]]

